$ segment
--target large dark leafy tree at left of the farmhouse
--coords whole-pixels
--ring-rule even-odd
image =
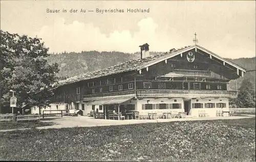
[[[9,107],[10,89],[15,91],[17,107],[23,102],[39,109],[50,104],[51,85],[59,70],[56,63],[48,64],[48,50],[39,38],[1,30],[1,107]]]

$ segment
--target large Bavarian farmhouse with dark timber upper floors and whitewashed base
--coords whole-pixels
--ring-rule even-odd
[[[246,70],[199,45],[150,56],[149,45],[140,45],[141,58],[100,71],[60,81],[54,88],[51,110],[76,109],[108,112],[114,108],[150,112],[184,112],[190,117],[215,117],[228,111],[228,99],[237,91],[227,90],[230,80]],[[38,109],[32,108],[32,113]]]

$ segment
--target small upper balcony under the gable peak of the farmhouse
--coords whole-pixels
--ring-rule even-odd
[[[165,76],[186,76],[186,77],[213,77],[222,78],[220,75],[210,71],[174,70]]]

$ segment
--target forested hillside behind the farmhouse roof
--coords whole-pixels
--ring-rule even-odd
[[[156,55],[162,52],[151,52],[150,55]],[[114,66],[116,64],[130,61],[132,59],[140,58],[140,53],[122,53],[122,52],[97,52],[97,51],[82,51],[81,53],[61,53],[52,54],[48,57],[50,63],[58,63],[60,79],[66,79],[76,75],[97,71],[102,68]],[[255,70],[255,57],[253,58],[239,58],[239,59],[228,59],[229,61],[236,63],[246,70]],[[255,71],[247,72],[244,78],[248,78],[253,86],[255,87]],[[244,78],[237,80],[237,87]],[[230,81],[228,85],[229,89],[235,90],[236,84],[234,81]]]

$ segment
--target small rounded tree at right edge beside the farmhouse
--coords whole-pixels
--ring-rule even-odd
[[[236,100],[238,107],[255,107],[255,89],[249,79],[244,79]]]

